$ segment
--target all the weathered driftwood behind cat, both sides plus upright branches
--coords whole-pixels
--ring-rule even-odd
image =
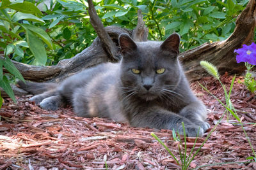
[[[119,60],[120,52],[116,49],[118,49],[118,36],[122,33],[129,34],[136,41],[147,41],[148,29],[145,27],[140,11],[138,11],[139,17],[136,29],[129,31],[116,26],[103,27],[94,7],[90,4],[90,1],[88,3],[90,5],[90,20],[99,37],[95,38],[92,45],[84,49],[83,52],[78,53],[71,59],[60,60],[56,66],[30,66],[13,61],[26,80],[59,82],[85,68],[102,62]],[[237,17],[236,29],[229,38],[225,41],[205,43],[193,50],[180,53],[179,59],[182,62],[188,79],[190,81],[198,80],[207,75],[200,66],[201,60],[207,60],[214,64],[218,67],[220,74],[226,71],[230,74],[243,73],[245,69],[244,64],[236,63],[234,50],[241,48],[243,44],[249,45],[252,43],[255,25],[256,2],[255,0],[250,0],[246,8]],[[109,38],[106,38],[106,35]],[[111,42],[109,43],[109,41]]]

